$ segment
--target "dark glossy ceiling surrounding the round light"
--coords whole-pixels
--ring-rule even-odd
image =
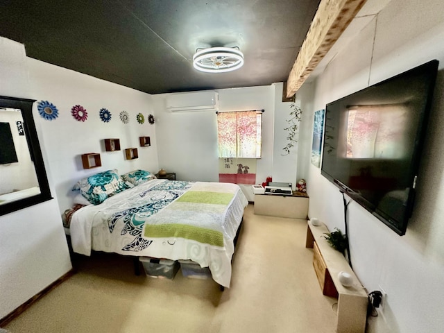
[[[3,0],[0,36],[31,58],[149,94],[287,80],[318,0]],[[241,69],[194,69],[196,49],[238,46]]]

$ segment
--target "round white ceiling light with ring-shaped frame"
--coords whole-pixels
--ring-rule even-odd
[[[223,73],[234,71],[244,65],[244,53],[231,47],[211,47],[196,51],[193,66],[198,71]]]

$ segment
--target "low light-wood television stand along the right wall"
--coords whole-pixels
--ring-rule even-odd
[[[329,232],[325,225],[314,226],[308,221],[305,247],[314,249],[313,266],[323,294],[338,297],[336,332],[364,333],[367,321],[367,293],[347,259],[327,243],[327,239],[323,237],[325,232]],[[344,287],[338,279],[341,271],[352,275],[355,284]]]

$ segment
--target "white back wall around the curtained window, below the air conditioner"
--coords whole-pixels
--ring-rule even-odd
[[[257,160],[257,182],[271,175],[273,164],[275,85],[219,89],[219,110],[260,110],[262,116],[262,158]],[[216,113],[176,112],[166,108],[168,94],[153,95],[156,110],[159,166],[176,172],[180,180],[219,181]]]

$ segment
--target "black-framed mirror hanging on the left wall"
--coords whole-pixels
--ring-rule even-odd
[[[51,200],[33,99],[0,96],[0,215]]]

